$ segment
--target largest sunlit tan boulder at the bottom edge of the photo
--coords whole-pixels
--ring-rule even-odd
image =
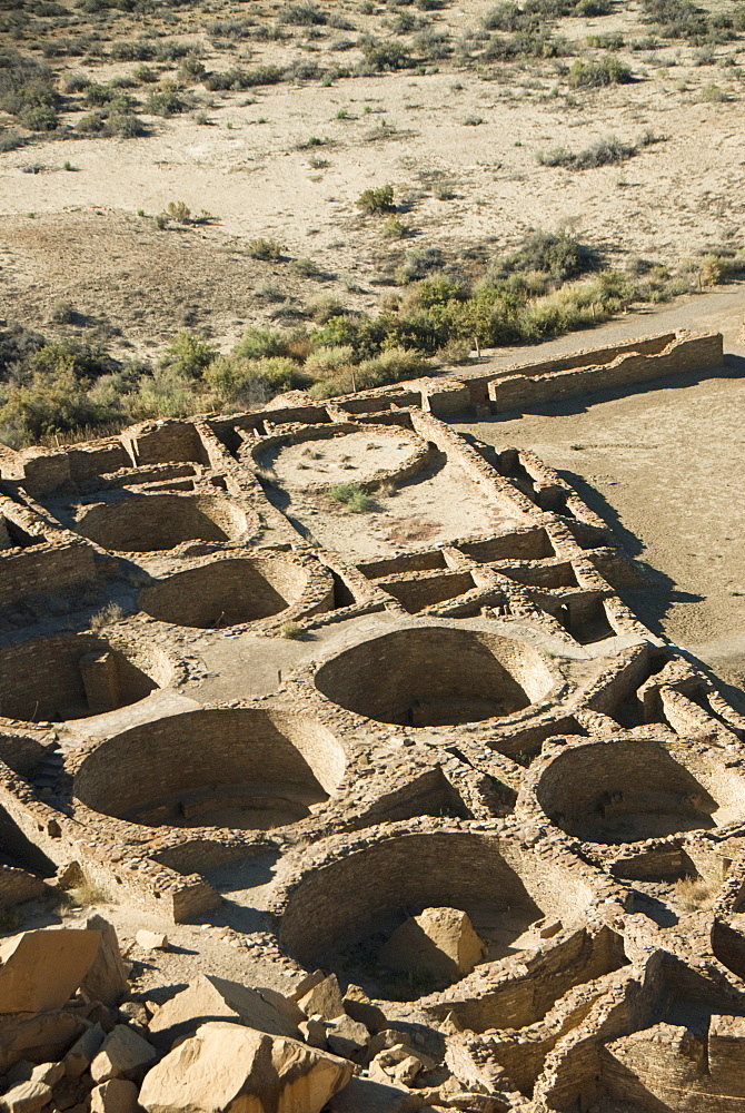
[[[351,1073],[297,1040],[211,1021],[146,1075],[139,1102],[148,1113],[320,1113]]]

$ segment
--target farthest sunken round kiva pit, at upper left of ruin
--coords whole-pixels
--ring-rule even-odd
[[[91,506],[77,530],[102,549],[160,552],[185,541],[234,541],[248,530],[246,513],[219,495],[132,495]]]

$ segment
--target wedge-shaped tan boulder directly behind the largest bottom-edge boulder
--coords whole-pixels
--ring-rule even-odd
[[[201,974],[188,989],[167,1001],[150,1021],[150,1036],[159,1047],[191,1035],[207,1021],[227,1020],[276,1036],[299,1035],[306,1018],[298,1006],[274,989],[251,989],[238,982]]]

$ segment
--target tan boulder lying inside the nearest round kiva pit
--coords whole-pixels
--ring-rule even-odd
[[[425,908],[396,928],[379,959],[395,971],[453,981],[470,974],[485,955],[468,914],[459,908]]]

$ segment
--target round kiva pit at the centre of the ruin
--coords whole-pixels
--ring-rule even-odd
[[[316,687],[379,722],[444,727],[513,715],[544,699],[555,678],[525,642],[479,630],[396,630],[331,658]]]

